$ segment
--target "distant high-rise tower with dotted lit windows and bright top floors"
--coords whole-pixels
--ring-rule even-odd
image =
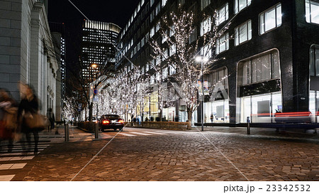
[[[114,23],[89,20],[84,20],[82,28],[82,75],[89,83],[114,65],[121,28]]]

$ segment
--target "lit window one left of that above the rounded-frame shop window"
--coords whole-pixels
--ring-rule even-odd
[[[235,28],[235,45],[252,39],[252,21],[246,21]]]

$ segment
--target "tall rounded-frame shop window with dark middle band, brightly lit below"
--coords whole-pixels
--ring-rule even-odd
[[[282,111],[278,50],[257,55],[238,64],[237,117],[239,122],[273,122]]]

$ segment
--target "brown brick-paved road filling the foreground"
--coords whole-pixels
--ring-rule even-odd
[[[110,144],[111,138],[53,144],[13,180],[71,180],[106,144],[74,180],[319,180],[317,140],[203,132],[211,144],[198,131],[123,133],[130,136],[118,134]]]

